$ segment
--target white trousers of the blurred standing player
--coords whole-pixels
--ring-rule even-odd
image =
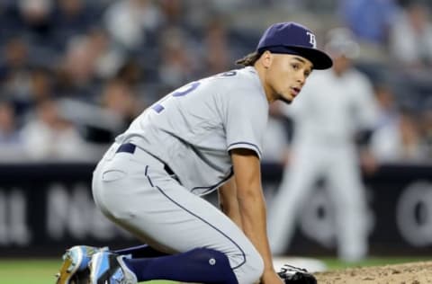
[[[273,253],[286,251],[297,214],[307,206],[314,182],[324,176],[336,211],[338,256],[347,261],[361,260],[367,253],[367,205],[356,149],[351,144],[325,146],[303,141],[294,146],[293,161],[284,169],[269,210],[268,235]]]

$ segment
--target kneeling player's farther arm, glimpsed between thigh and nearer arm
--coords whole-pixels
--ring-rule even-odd
[[[219,205],[225,215],[227,215],[237,226],[242,229],[241,216],[238,209],[237,186],[235,177],[231,177],[225,182],[218,191]]]

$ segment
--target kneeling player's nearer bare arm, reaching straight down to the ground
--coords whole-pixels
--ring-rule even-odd
[[[264,284],[281,284],[275,272],[272,253],[266,233],[266,201],[261,185],[261,167],[257,153],[247,148],[231,151],[234,177],[237,186],[238,210],[243,232],[257,248],[264,261]]]

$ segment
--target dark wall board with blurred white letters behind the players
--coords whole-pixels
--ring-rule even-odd
[[[139,244],[94,207],[94,164],[0,165],[0,255],[58,256],[75,244],[121,248]],[[282,169],[263,164],[266,199],[277,191]],[[432,254],[432,167],[383,165],[365,176],[370,254]],[[215,203],[215,195],[207,197]],[[335,254],[332,200],[316,183],[298,212],[287,253]]]

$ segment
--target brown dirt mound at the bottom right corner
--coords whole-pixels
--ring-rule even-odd
[[[314,275],[319,284],[426,284],[432,283],[432,262],[350,268]]]

